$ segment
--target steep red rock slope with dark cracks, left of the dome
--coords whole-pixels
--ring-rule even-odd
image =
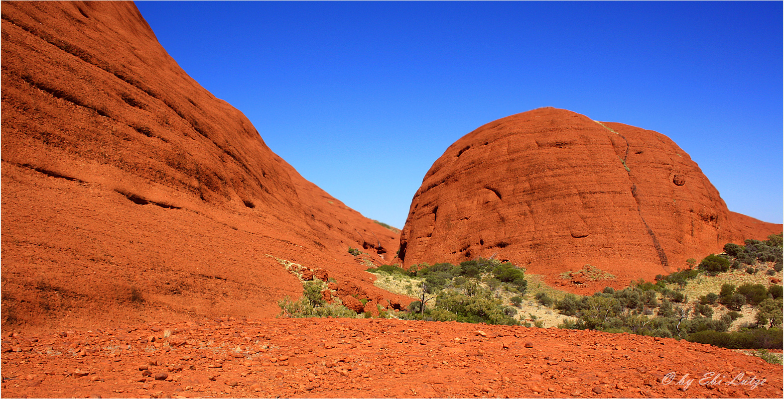
[[[406,299],[347,250],[383,264],[397,241],[272,153],[132,2],[2,3],[3,325],[274,316],[302,294],[276,258],[387,306]]]

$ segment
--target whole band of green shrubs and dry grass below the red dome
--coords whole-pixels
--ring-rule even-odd
[[[350,252],[362,254],[354,248]],[[457,265],[423,263],[408,269],[382,265],[368,271],[376,274],[377,286],[418,298],[405,311],[379,308],[380,317],[541,327],[542,320],[521,311],[525,301],[535,301],[561,315],[558,327],[562,329],[671,337],[756,349],[754,354],[760,358],[778,359],[765,350],[782,348],[782,286],[769,282],[771,276],[781,278],[782,235],[746,240],[742,246],[727,244],[724,253],[710,254],[699,263],[689,259],[685,266],[670,275],[657,275],[655,282],[641,279],[590,297],[561,293],[542,287],[541,282],[529,293],[524,269],[481,257]],[[590,265],[578,273],[596,280],[612,278]],[[325,289],[325,282],[303,282],[300,300],[280,301],[281,316],[371,317],[357,315],[339,301],[326,304]]]

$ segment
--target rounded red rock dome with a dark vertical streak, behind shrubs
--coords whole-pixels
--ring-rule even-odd
[[[485,124],[436,160],[412,201],[400,259],[495,256],[551,282],[590,264],[625,286],[781,231],[728,211],[665,135],[544,108]]]

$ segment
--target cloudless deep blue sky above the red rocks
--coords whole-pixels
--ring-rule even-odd
[[[452,142],[539,106],[659,131],[782,222],[782,2],[136,5],[304,178],[398,228]]]

